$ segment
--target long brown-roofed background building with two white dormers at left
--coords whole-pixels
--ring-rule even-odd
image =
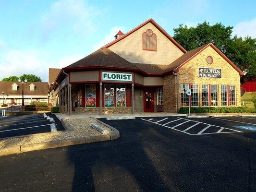
[[[22,104],[22,84],[19,82],[0,81],[0,104]],[[48,102],[47,82],[27,82],[24,84],[24,103],[32,101]]]

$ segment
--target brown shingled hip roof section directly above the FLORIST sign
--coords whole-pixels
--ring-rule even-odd
[[[108,48],[100,48],[87,57],[74,62],[64,69],[86,68],[92,66],[137,69],[132,63],[123,59]]]

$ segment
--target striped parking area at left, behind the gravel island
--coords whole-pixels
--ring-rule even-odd
[[[56,122],[59,120],[55,115],[47,114]],[[50,122],[43,114],[15,115],[0,117],[0,138],[51,132],[50,124],[57,125],[57,131],[64,130],[61,123]]]

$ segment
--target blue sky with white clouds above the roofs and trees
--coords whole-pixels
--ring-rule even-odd
[[[256,38],[256,0],[0,0],[0,80],[24,73],[48,82],[66,67],[153,18],[171,36],[179,24],[233,26]]]

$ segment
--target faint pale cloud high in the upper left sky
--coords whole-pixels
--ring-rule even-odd
[[[84,0],[59,0],[41,18],[43,38],[48,40],[56,30],[73,30],[86,36],[95,30],[94,20],[100,11]],[[56,36],[55,36],[56,37]]]

